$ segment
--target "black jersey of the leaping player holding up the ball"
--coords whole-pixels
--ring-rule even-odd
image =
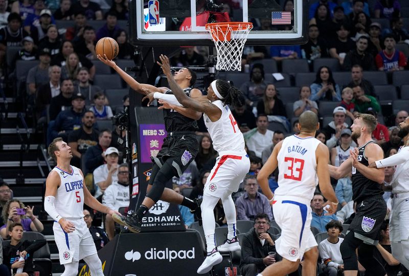
[[[183,89],[183,91],[190,97],[190,90],[192,88],[188,87]],[[171,94],[172,90],[167,90],[165,94]],[[197,122],[193,119],[190,119],[179,112],[176,112],[173,109],[164,109],[163,110],[163,117],[165,120],[165,128],[166,131],[174,132],[174,131],[197,131]]]

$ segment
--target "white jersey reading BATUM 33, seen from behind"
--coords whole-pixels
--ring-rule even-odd
[[[314,137],[291,135],[283,140],[277,155],[279,176],[276,195],[311,200],[318,183],[315,150],[320,141]]]

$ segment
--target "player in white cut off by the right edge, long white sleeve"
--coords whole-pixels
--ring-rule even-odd
[[[396,166],[392,184],[392,211],[389,222],[392,255],[409,269],[409,117],[399,124],[404,147],[395,155],[378,160],[370,168]]]

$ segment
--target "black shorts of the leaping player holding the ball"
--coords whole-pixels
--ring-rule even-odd
[[[176,176],[180,177],[195,159],[198,151],[199,143],[194,132],[172,132],[164,139],[162,149],[156,157],[152,156],[151,159],[152,162],[162,167],[168,158],[173,157],[172,166],[177,171]]]

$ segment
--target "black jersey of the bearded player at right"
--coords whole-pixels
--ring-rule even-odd
[[[370,143],[375,143],[370,141],[362,147],[358,148],[358,161],[364,166],[369,165],[368,159],[365,156],[365,148]],[[368,179],[363,176],[355,167],[352,167],[352,200],[360,201],[363,198],[371,196],[379,196],[383,194],[382,185]]]

